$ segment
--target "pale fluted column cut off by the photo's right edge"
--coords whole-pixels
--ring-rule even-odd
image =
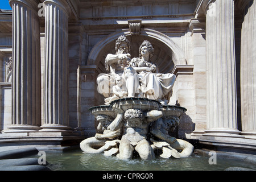
[[[256,135],[256,2],[245,8],[241,30],[242,134]],[[256,137],[256,136],[255,136]]]

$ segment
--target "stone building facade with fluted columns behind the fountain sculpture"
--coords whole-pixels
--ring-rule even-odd
[[[169,104],[187,109],[177,138],[255,154],[255,1],[10,0],[10,5],[12,11],[0,12],[3,148],[61,146],[93,136],[96,124],[88,109],[104,105],[96,79],[106,73],[105,57],[115,52],[115,40],[126,35],[132,57],[148,40],[160,73],[176,75]]]

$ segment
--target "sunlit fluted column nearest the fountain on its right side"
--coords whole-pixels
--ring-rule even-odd
[[[205,1],[207,46],[207,132],[232,136],[237,130],[233,0]]]

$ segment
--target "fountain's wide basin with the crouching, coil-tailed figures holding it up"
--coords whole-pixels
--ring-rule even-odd
[[[82,151],[86,154],[108,153],[110,148],[107,142],[113,139],[116,139],[114,143],[112,142],[115,150],[113,154],[121,159],[132,158],[135,146],[135,150],[144,160],[151,160],[154,156],[152,151],[155,150],[163,151],[160,155],[162,158],[170,158],[170,156],[186,158],[193,152],[192,144],[168,135],[168,131],[174,130],[179,125],[181,114],[186,111],[184,107],[162,105],[147,98],[128,97],[114,100],[110,105],[90,107],[89,110],[100,122],[97,129],[103,134],[96,134],[95,138],[91,137],[80,143]],[[121,129],[124,131],[122,134]],[[147,138],[149,133],[156,137],[156,140],[154,137]],[[144,146],[139,142],[143,142]],[[127,148],[129,145],[131,147]]]

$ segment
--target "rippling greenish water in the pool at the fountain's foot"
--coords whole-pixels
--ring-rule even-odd
[[[228,167],[242,167],[256,170],[256,164],[236,159],[218,159],[209,164],[210,156],[193,154],[189,158],[163,159],[156,157],[151,161],[139,158],[120,160],[115,156],[103,154],[84,154],[81,150],[63,153],[46,153],[48,168],[53,171],[222,171]]]

